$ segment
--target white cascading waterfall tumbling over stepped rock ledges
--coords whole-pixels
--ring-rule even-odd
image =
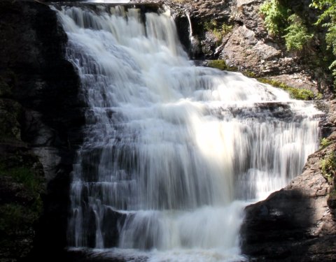
[[[318,111],[239,73],[195,66],[172,17],[145,16],[59,11],[88,105],[69,245],[148,261],[244,260],[244,205],[300,174],[318,146]]]

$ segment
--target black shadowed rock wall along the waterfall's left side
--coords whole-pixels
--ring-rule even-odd
[[[0,31],[0,166],[1,161],[5,163],[0,188],[6,188],[1,190],[0,205],[29,206],[28,196],[18,198],[25,184],[10,178],[18,176],[13,168],[27,169],[27,177],[44,175],[41,188],[33,192],[43,207],[34,219],[19,208],[22,220],[31,224],[23,231],[19,226],[16,233],[0,235],[1,242],[13,244],[11,252],[0,245],[0,260],[15,261],[27,255],[33,238],[39,249],[34,259],[39,259],[41,249],[57,254],[53,251],[66,245],[70,173],[84,122],[83,105],[77,99],[79,80],[64,59],[66,34],[48,6],[0,1]],[[11,166],[8,159],[14,159]],[[1,220],[6,212],[1,209],[0,214],[6,228],[6,221]],[[23,240],[22,232],[28,232]],[[25,247],[24,253],[18,252],[20,245]]]

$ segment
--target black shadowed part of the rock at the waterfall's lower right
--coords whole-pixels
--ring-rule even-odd
[[[281,189],[246,207],[241,249],[251,261],[335,261],[336,235],[314,235],[311,198]]]

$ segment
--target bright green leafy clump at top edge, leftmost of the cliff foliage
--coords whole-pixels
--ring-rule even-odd
[[[265,20],[265,27],[269,34],[283,35],[283,30],[288,26],[288,8],[278,0],[267,0],[260,6],[260,14]]]

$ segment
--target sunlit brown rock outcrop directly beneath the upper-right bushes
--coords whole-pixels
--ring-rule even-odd
[[[316,65],[316,50],[307,52],[288,52],[283,39],[269,36],[260,15],[260,5],[264,1],[241,0],[233,8],[232,22],[235,27],[221,45],[219,58],[234,65],[240,71],[251,71],[258,77],[268,77],[286,85],[310,89],[315,94],[321,92],[331,95],[330,77],[326,68]],[[309,10],[309,3],[293,4],[293,8],[304,7],[310,15],[309,21],[316,20],[316,14]],[[300,12],[302,12],[302,8]],[[310,58],[310,59],[309,59]],[[322,79],[322,80],[321,80]]]

